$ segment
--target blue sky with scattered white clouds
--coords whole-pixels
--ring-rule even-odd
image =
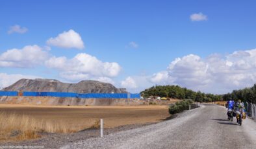
[[[256,1],[0,1],[0,87],[21,78],[178,85],[256,83]]]

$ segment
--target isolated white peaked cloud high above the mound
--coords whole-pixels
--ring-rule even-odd
[[[74,30],[64,31],[55,38],[46,41],[47,45],[53,45],[62,48],[84,49],[84,42],[81,36]]]

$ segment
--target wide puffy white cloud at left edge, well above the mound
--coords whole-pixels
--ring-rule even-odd
[[[0,54],[0,67],[34,67],[49,57],[47,50],[38,45],[27,45],[22,49],[9,49]]]

